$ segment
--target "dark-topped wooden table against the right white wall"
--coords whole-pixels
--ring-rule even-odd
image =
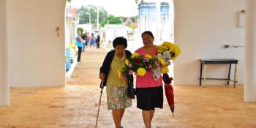
[[[238,60],[237,59],[199,59],[200,60],[200,82],[199,85],[202,85],[202,80],[203,80],[203,87],[205,87],[206,80],[227,80],[227,85],[230,84],[230,81],[233,81],[233,87],[236,87],[236,71],[237,71],[237,64]],[[228,69],[228,76],[227,78],[206,78],[206,66],[207,64],[229,64],[229,69]],[[235,64],[235,72],[234,72],[234,79],[230,79],[230,70],[231,70],[231,65]],[[203,78],[202,78],[202,72],[203,72]]]

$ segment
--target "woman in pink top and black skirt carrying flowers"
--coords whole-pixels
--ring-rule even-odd
[[[153,44],[154,36],[151,31],[144,31],[141,37],[144,46],[135,52],[143,56],[145,54],[157,56],[157,46]],[[145,127],[151,128],[154,109],[162,108],[163,106],[162,77],[154,80],[152,71],[147,71],[143,77],[137,75],[136,94],[137,108],[143,110],[142,116]]]

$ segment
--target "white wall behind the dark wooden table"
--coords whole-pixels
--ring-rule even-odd
[[[222,48],[244,43],[244,28],[236,27],[236,12],[245,10],[245,0],[174,0],[175,42],[181,55],[175,63],[176,85],[198,85],[198,59],[238,59],[238,83],[244,83],[244,48]],[[227,65],[208,66],[208,78],[227,77]],[[233,69],[231,70],[233,78]],[[210,81],[206,84],[226,84]],[[233,83],[232,83],[233,84]]]

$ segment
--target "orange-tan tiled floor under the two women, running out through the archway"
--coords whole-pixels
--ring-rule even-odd
[[[80,128],[94,127],[99,102],[99,67],[104,49],[83,52],[67,86],[56,88],[11,89],[11,105],[0,108],[0,128]],[[157,109],[154,128],[255,128],[256,103],[243,101],[243,86],[173,86],[175,117],[165,100]],[[125,128],[142,128],[141,111],[132,108],[124,113]],[[113,119],[103,91],[99,128],[112,128]]]

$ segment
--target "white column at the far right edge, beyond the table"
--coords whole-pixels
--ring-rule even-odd
[[[244,102],[256,102],[256,1],[246,0]]]

